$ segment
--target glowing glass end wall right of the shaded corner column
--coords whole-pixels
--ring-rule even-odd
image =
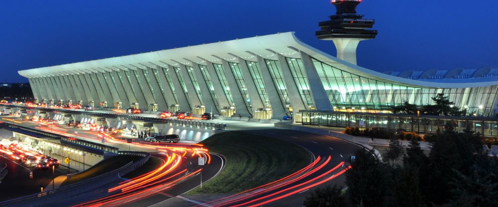
[[[406,102],[433,104],[432,98],[444,94],[455,107],[471,114],[488,114],[493,107],[497,86],[478,88],[417,88],[376,81],[358,76],[313,59],[325,92],[334,109],[354,107],[369,112],[388,111]]]

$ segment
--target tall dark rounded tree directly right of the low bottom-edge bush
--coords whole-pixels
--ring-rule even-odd
[[[385,203],[387,170],[373,150],[359,149],[346,171],[348,198],[354,206],[380,207]]]

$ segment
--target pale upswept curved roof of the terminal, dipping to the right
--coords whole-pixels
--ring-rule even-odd
[[[192,65],[192,63],[205,65],[207,64],[206,61],[221,64],[221,59],[229,62],[238,62],[238,57],[244,60],[256,61],[257,57],[255,55],[266,59],[277,60],[277,55],[275,53],[290,58],[300,58],[299,51],[303,51],[311,57],[341,70],[391,84],[422,88],[471,88],[498,85],[497,77],[487,78],[486,81],[483,82],[468,82],[465,84],[448,81],[442,85],[441,82],[437,83],[433,80],[421,81],[391,76],[351,64],[313,48],[301,42],[294,35],[294,32],[255,36],[244,39],[153,51],[121,57],[42,67],[22,70],[18,73],[26,78],[35,78],[98,71],[136,70],[138,68],[145,69],[146,67],[166,67],[167,65],[179,66],[179,64]],[[413,76],[414,74],[418,74],[420,76],[423,73],[413,72],[411,75]]]

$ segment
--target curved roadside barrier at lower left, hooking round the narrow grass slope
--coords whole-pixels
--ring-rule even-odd
[[[119,176],[125,175],[141,167],[150,158],[150,154],[146,152],[124,151],[124,152],[119,152],[118,154],[138,155],[138,156],[143,156],[143,158],[136,162],[129,162],[128,164],[124,165],[119,169],[99,175],[95,178],[63,186],[52,191],[31,194],[28,196],[23,196],[16,199],[0,202],[0,206],[28,206],[28,207],[45,206],[54,201],[65,200],[67,198],[70,198],[71,196],[85,193],[93,189],[96,189],[98,187],[104,186],[112,181],[119,180],[120,179]]]

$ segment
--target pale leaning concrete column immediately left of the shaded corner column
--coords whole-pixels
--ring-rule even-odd
[[[299,110],[306,109],[306,106],[301,99],[301,95],[299,95],[299,89],[294,81],[294,77],[292,77],[292,73],[290,72],[287,60],[280,54],[276,55],[278,56],[278,62],[280,63],[280,68],[282,69],[282,75],[285,81],[285,87],[287,88],[290,103],[292,104],[292,110],[298,112]]]

